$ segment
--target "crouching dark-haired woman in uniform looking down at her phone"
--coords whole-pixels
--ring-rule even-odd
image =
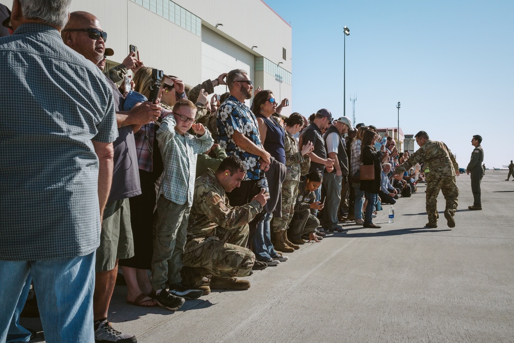
[[[298,185],[295,214],[287,230],[287,236],[294,244],[305,244],[302,235],[309,235],[309,241],[319,242],[314,230],[320,226],[320,221],[310,210],[323,208],[323,204],[321,201],[316,201],[316,195],[314,194],[314,191],[320,187],[322,180],[321,173],[315,171],[307,174],[307,180],[301,181]]]

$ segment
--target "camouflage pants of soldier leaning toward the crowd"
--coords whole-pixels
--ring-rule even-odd
[[[455,214],[458,204],[458,188],[455,177],[446,177],[435,180],[427,180],[427,214],[429,223],[437,223],[437,196],[439,190],[443,192],[446,200],[445,211],[448,210],[452,215]]]

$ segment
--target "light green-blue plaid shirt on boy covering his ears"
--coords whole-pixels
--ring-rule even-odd
[[[159,194],[179,205],[193,205],[196,159],[198,154],[207,151],[214,140],[206,129],[201,137],[187,132],[181,136],[175,131],[175,118],[169,115],[162,120],[157,130],[157,142],[164,162],[164,171]]]

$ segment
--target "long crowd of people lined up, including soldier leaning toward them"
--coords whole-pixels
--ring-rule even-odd
[[[103,73],[107,33],[91,13],[68,18],[68,7],[14,0],[4,21],[14,34],[0,39],[0,341],[30,338],[19,316],[33,283],[47,341],[136,342],[107,320],[118,265],[128,303],[175,311],[211,289],[250,288],[238,277],[345,232],[341,222],[380,228],[381,204],[445,173],[427,165],[437,154],[458,173],[424,131],[410,156],[325,108],[283,117],[288,100],[254,89],[245,70],[189,87],[131,51]],[[214,94],[219,85],[229,92]],[[21,125],[27,112],[31,125]],[[428,187],[449,194],[449,226],[453,185]]]

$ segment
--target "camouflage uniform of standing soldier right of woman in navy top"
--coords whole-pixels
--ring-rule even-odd
[[[298,151],[296,139],[287,131],[285,131],[284,149],[287,173],[282,183],[282,217],[273,218],[273,232],[287,230],[292,216],[295,213],[295,200],[298,194],[300,176],[302,175],[302,165],[310,164],[308,155],[302,156],[301,151]],[[309,168],[309,166],[306,168]]]

